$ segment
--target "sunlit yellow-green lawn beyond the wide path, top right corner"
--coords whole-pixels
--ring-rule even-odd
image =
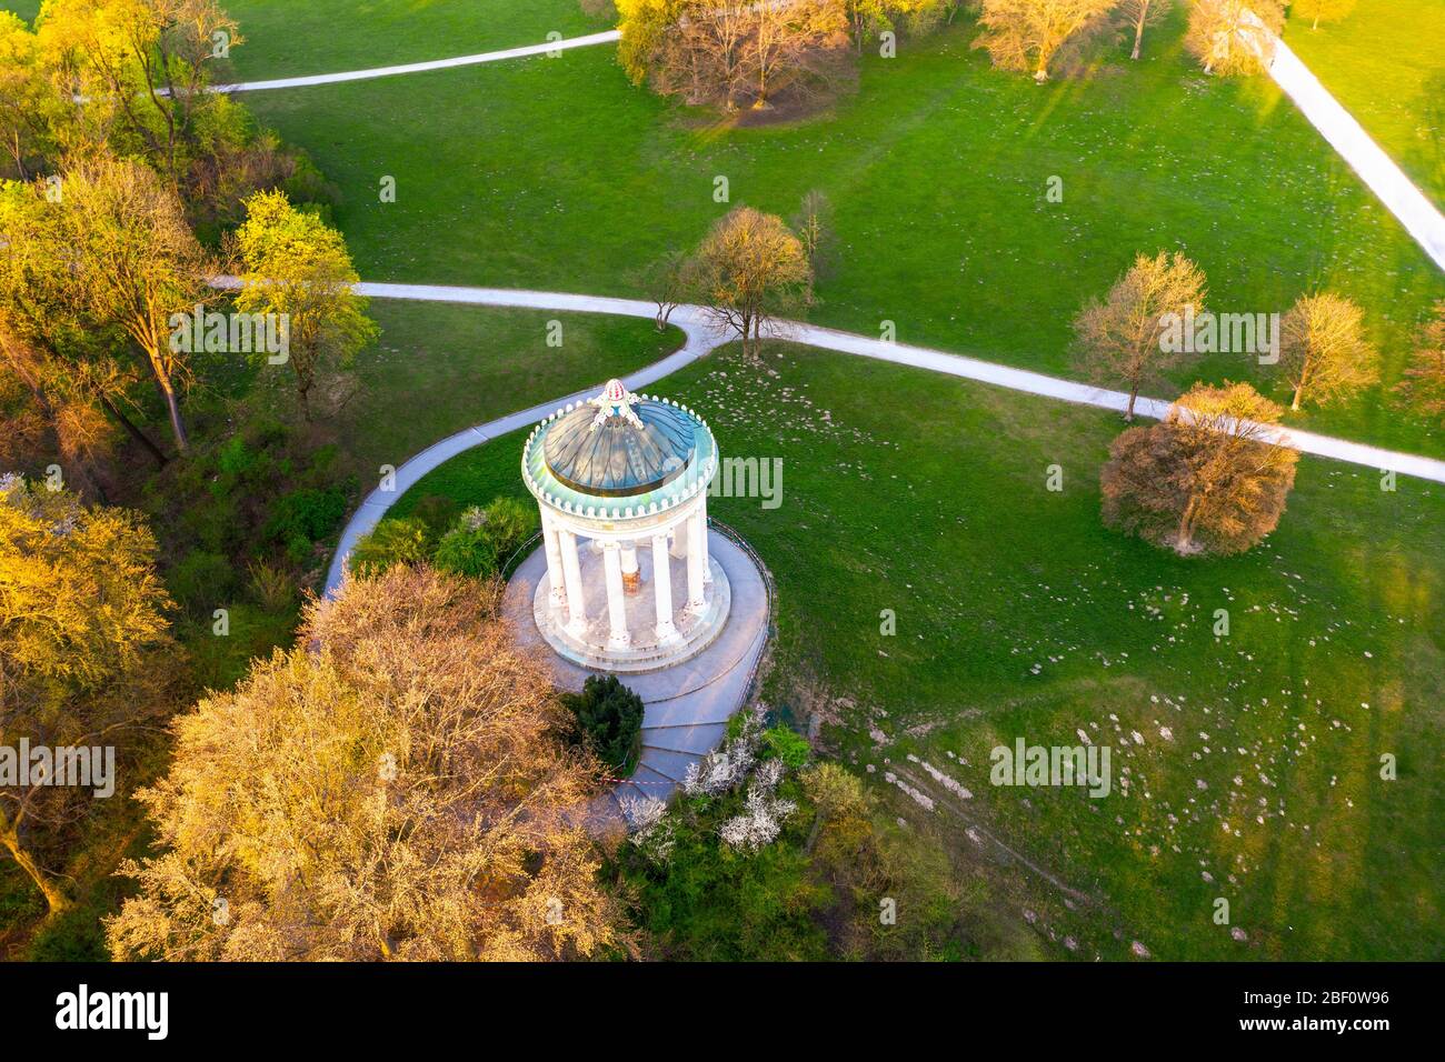
[[[1285,42],[1370,136],[1445,207],[1445,7],[1360,0],[1341,22],[1293,19]]]

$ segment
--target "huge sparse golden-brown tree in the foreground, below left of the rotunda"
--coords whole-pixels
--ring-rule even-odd
[[[548,959],[631,951],[500,584],[396,569],[306,608],[296,647],[175,724],[143,792],[159,854],[107,919],[117,958]],[[308,646],[315,649],[308,649]]]

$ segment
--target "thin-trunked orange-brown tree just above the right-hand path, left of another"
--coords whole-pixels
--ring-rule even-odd
[[[1074,318],[1075,364],[1091,380],[1129,387],[1124,419],[1134,419],[1139,389],[1179,364],[1162,341],[1168,315],[1204,308],[1204,273],[1182,254],[1139,254],[1103,302]]]

